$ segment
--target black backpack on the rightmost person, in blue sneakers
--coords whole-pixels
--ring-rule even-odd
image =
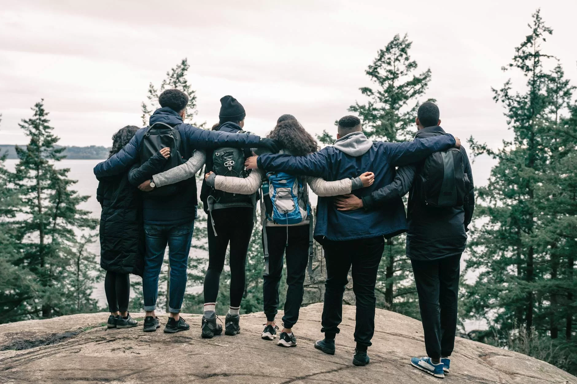
[[[422,203],[437,207],[462,206],[469,199],[469,176],[458,148],[434,152],[418,168],[416,191]]]

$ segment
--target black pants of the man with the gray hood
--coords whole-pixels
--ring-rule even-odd
[[[349,283],[347,274],[353,266],[353,291],[357,299],[355,341],[370,347],[374,333],[374,285],[379,263],[385,248],[384,238],[325,240],[323,249],[327,261],[327,282],[321,332],[339,333],[343,317],[344,287]]]

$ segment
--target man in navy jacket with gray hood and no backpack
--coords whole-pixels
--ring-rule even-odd
[[[361,121],[357,117],[344,116],[338,123],[335,145],[309,156],[254,156],[246,165],[267,171],[317,176],[328,181],[373,172],[373,185],[354,191],[362,198],[391,183],[396,166],[414,163],[452,146],[460,146],[460,142],[450,134],[411,142],[373,142],[362,133]],[[337,210],[330,197],[319,197],[314,238],[323,245],[327,281],[321,322],[321,332],[324,332],[325,338],[317,341],[315,348],[329,355],[335,353],[335,336],[342,321],[343,293],[352,266],[353,291],[357,301],[354,333],[357,348],[353,364],[365,366],[369,363],[366,351],[374,333],[374,286],[383,255],[384,238],[406,230],[406,216],[400,197],[379,209],[350,212]]]

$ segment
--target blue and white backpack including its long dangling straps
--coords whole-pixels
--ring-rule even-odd
[[[269,172],[263,179],[262,189],[261,195],[265,210],[263,222],[264,273],[268,274],[268,240],[267,231],[264,229],[266,221],[286,225],[288,231],[288,225],[309,220],[309,277],[312,278],[314,225],[306,178],[290,175],[286,172]]]

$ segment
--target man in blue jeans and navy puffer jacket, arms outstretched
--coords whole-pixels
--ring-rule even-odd
[[[177,131],[178,148],[171,149],[171,156],[178,156],[178,160],[188,160],[193,157],[196,149],[213,149],[221,146],[233,148],[265,147],[278,152],[278,145],[274,140],[260,138],[250,134],[234,134],[218,131],[198,129],[183,122],[189,97],[178,89],[167,89],[159,96],[161,108],[150,117],[150,126],[168,127]],[[148,148],[145,135],[149,127],[140,129],[134,137],[118,153],[110,159],[94,167],[97,178],[114,176],[128,172],[134,164],[138,164]],[[175,136],[175,134],[173,134]],[[177,140],[175,140],[177,142]],[[156,148],[159,150],[160,148]],[[136,180],[134,182],[141,180]],[[189,325],[180,317],[182,300],[186,288],[186,268],[194,219],[196,217],[196,183],[185,182],[179,189],[178,196],[145,198],[144,200],[144,231],[146,240],[146,254],[144,260],[143,295],[145,332],[153,332],[159,326],[156,317],[156,299],[158,297],[158,276],[162,267],[164,250],[168,244],[168,258],[170,259],[170,292],[168,310],[170,318],[164,332],[175,333],[188,330]],[[153,190],[155,184],[146,180],[140,186],[141,190]]]

